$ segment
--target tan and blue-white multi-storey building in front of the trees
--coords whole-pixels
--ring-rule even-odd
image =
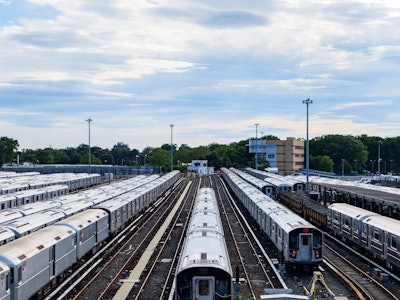
[[[249,153],[264,158],[271,168],[289,175],[305,167],[304,140],[288,137],[286,140],[250,140]]]

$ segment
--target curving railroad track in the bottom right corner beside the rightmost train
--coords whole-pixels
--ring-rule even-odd
[[[338,274],[359,299],[399,299],[399,292],[386,287],[355,253],[325,239],[324,264]]]

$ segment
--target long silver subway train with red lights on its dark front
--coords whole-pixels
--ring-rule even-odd
[[[227,168],[221,171],[239,201],[275,245],[281,263],[294,267],[322,264],[323,234],[318,228]]]

